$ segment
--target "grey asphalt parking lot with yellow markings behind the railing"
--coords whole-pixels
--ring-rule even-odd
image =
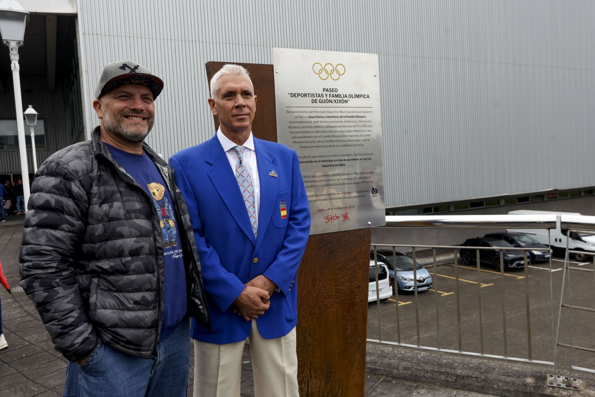
[[[571,260],[572,267],[593,269],[593,262]],[[529,358],[527,343],[527,308],[525,305],[525,281],[527,281],[530,312],[531,358],[553,361],[552,304],[550,299],[550,276],[554,302],[554,327],[558,320],[560,293],[564,261],[552,259],[537,262],[525,271],[507,270],[502,276],[494,268],[481,265],[478,275],[475,262],[469,266],[458,266],[458,288],[456,293],[456,272],[453,263],[439,265],[434,271],[432,265],[425,265],[432,273],[434,286],[431,290],[418,293],[419,345],[459,350],[459,321],[461,328],[461,350],[481,352],[479,295],[481,293],[481,331],[483,332],[483,353],[506,355],[507,357]],[[571,270],[572,305],[595,308],[594,273]],[[502,302],[504,290],[504,305]],[[459,312],[457,311],[459,301]],[[568,280],[565,282],[563,301],[569,303]],[[399,293],[380,302],[381,339],[418,345],[416,302],[414,293]],[[438,318],[437,323],[437,309]],[[397,326],[397,311],[399,324]],[[503,316],[503,312],[505,315]],[[595,312],[562,308],[559,342],[572,343],[586,348],[595,348],[593,324]],[[503,326],[505,321],[506,326]],[[439,331],[437,332],[437,327]],[[505,332],[506,330],[506,332]],[[378,308],[376,302],[368,305],[368,338],[380,339]],[[505,348],[506,339],[506,348]],[[556,351],[556,372],[568,373],[570,349],[558,347]],[[573,365],[595,368],[595,352],[574,349]],[[545,369],[547,371],[547,369]],[[580,376],[577,375],[577,376]]]

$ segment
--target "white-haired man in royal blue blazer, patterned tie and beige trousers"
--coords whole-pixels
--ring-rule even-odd
[[[224,65],[208,102],[217,134],[170,158],[212,317],[210,330],[192,321],[194,395],[240,395],[248,337],[256,396],[298,396],[296,274],[310,230],[299,160],[253,137],[256,96],[245,68]]]

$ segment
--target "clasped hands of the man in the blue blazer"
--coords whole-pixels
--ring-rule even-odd
[[[258,318],[270,307],[269,299],[275,289],[277,289],[277,285],[262,274],[254,277],[246,283],[240,296],[233,302],[236,306],[233,312],[241,315],[246,321]]]

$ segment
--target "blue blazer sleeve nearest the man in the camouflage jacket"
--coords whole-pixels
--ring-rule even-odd
[[[196,248],[201,259],[202,279],[209,298],[221,311],[226,311],[246,287],[233,273],[228,272],[219,259],[219,255],[205,240],[201,213],[196,201],[196,195],[188,182],[184,167],[176,157],[170,157],[170,166],[174,168],[176,185],[179,187],[190,214],[190,223],[196,240]],[[202,177],[202,176],[195,176]]]

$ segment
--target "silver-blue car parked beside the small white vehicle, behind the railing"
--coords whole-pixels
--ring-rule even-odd
[[[395,252],[397,277],[396,283],[394,278],[394,265],[393,265],[393,251],[388,249],[377,249],[376,251],[377,260],[383,262],[389,268],[390,279],[394,286],[399,286],[399,292],[414,290],[414,272],[413,272],[413,260],[408,255],[402,252]],[[370,252],[370,259],[374,260],[374,252]],[[432,276],[429,271],[425,270],[417,262],[415,263],[415,274],[417,276],[417,290],[423,291],[432,287]]]

